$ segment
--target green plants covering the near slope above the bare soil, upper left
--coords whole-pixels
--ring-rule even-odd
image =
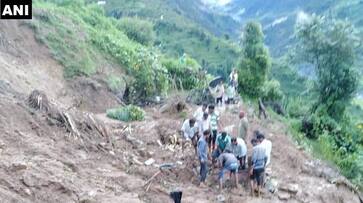
[[[65,67],[65,77],[90,76],[103,61],[112,60],[131,76],[127,84],[131,93],[129,102],[166,95],[177,73],[170,75],[160,58],[176,59],[164,57],[151,46],[154,42],[152,23],[137,18],[116,20],[105,16],[102,7],[82,0],[38,0],[34,7],[34,19],[28,25]],[[191,58],[188,61],[191,63],[180,69],[192,64],[197,72],[200,65]],[[114,76],[106,81],[113,91],[121,85]],[[198,82],[188,84],[188,89]]]

